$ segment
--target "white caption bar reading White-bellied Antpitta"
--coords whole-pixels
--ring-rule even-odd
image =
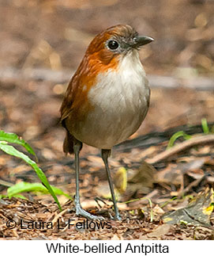
[[[213,241],[142,241],[142,240],[0,240],[1,254],[38,256],[38,255],[209,255]]]

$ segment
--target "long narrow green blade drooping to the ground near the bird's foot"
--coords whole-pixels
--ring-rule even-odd
[[[17,149],[13,146],[0,143],[0,149],[6,152],[6,154],[16,156],[17,158],[24,160],[24,162],[27,162],[28,165],[32,166],[32,168],[36,171],[36,174],[39,177],[40,181],[43,182],[43,185],[45,185],[49,193],[51,193],[51,196],[54,198],[54,201],[58,204],[58,208],[62,211],[61,205],[58,202],[58,198],[56,197],[53,189],[51,189],[51,185],[47,181],[45,174],[39,168],[39,166],[37,166],[36,162],[32,161],[32,159],[30,159],[28,155],[24,155],[24,153],[17,151]]]

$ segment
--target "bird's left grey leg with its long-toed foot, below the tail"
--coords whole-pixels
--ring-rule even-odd
[[[76,195],[75,195],[75,208],[77,216],[84,216],[90,220],[104,220],[102,216],[93,216],[89,212],[86,212],[83,208],[81,208],[80,201],[80,189],[79,189],[79,171],[80,171],[80,159],[79,153],[81,151],[82,143],[78,140],[75,140],[73,144],[73,151],[75,155],[75,171],[76,171]]]

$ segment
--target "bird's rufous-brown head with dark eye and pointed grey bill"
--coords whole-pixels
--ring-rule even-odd
[[[108,65],[133,50],[139,50],[152,40],[149,36],[139,36],[130,25],[115,25],[100,32],[92,40],[86,55],[89,59]]]

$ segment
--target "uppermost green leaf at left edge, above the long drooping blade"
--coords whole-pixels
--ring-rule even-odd
[[[24,139],[20,139],[15,133],[4,132],[0,130],[0,141],[7,141],[9,143],[16,143],[24,147],[30,154],[35,155],[32,147],[24,141]],[[36,158],[37,161],[37,158]]]

